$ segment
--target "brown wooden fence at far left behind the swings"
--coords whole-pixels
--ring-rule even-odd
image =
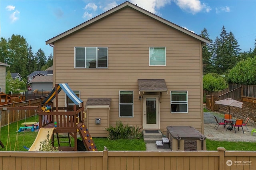
[[[22,102],[14,102],[12,104],[5,104],[0,106],[0,121],[1,127],[13,123],[26,117],[31,117],[36,114],[35,110],[4,110],[5,107],[26,107],[26,106],[39,106],[46,97],[41,97],[33,100],[26,100]],[[19,111],[19,117],[18,117]],[[9,121],[8,121],[9,115]]]

